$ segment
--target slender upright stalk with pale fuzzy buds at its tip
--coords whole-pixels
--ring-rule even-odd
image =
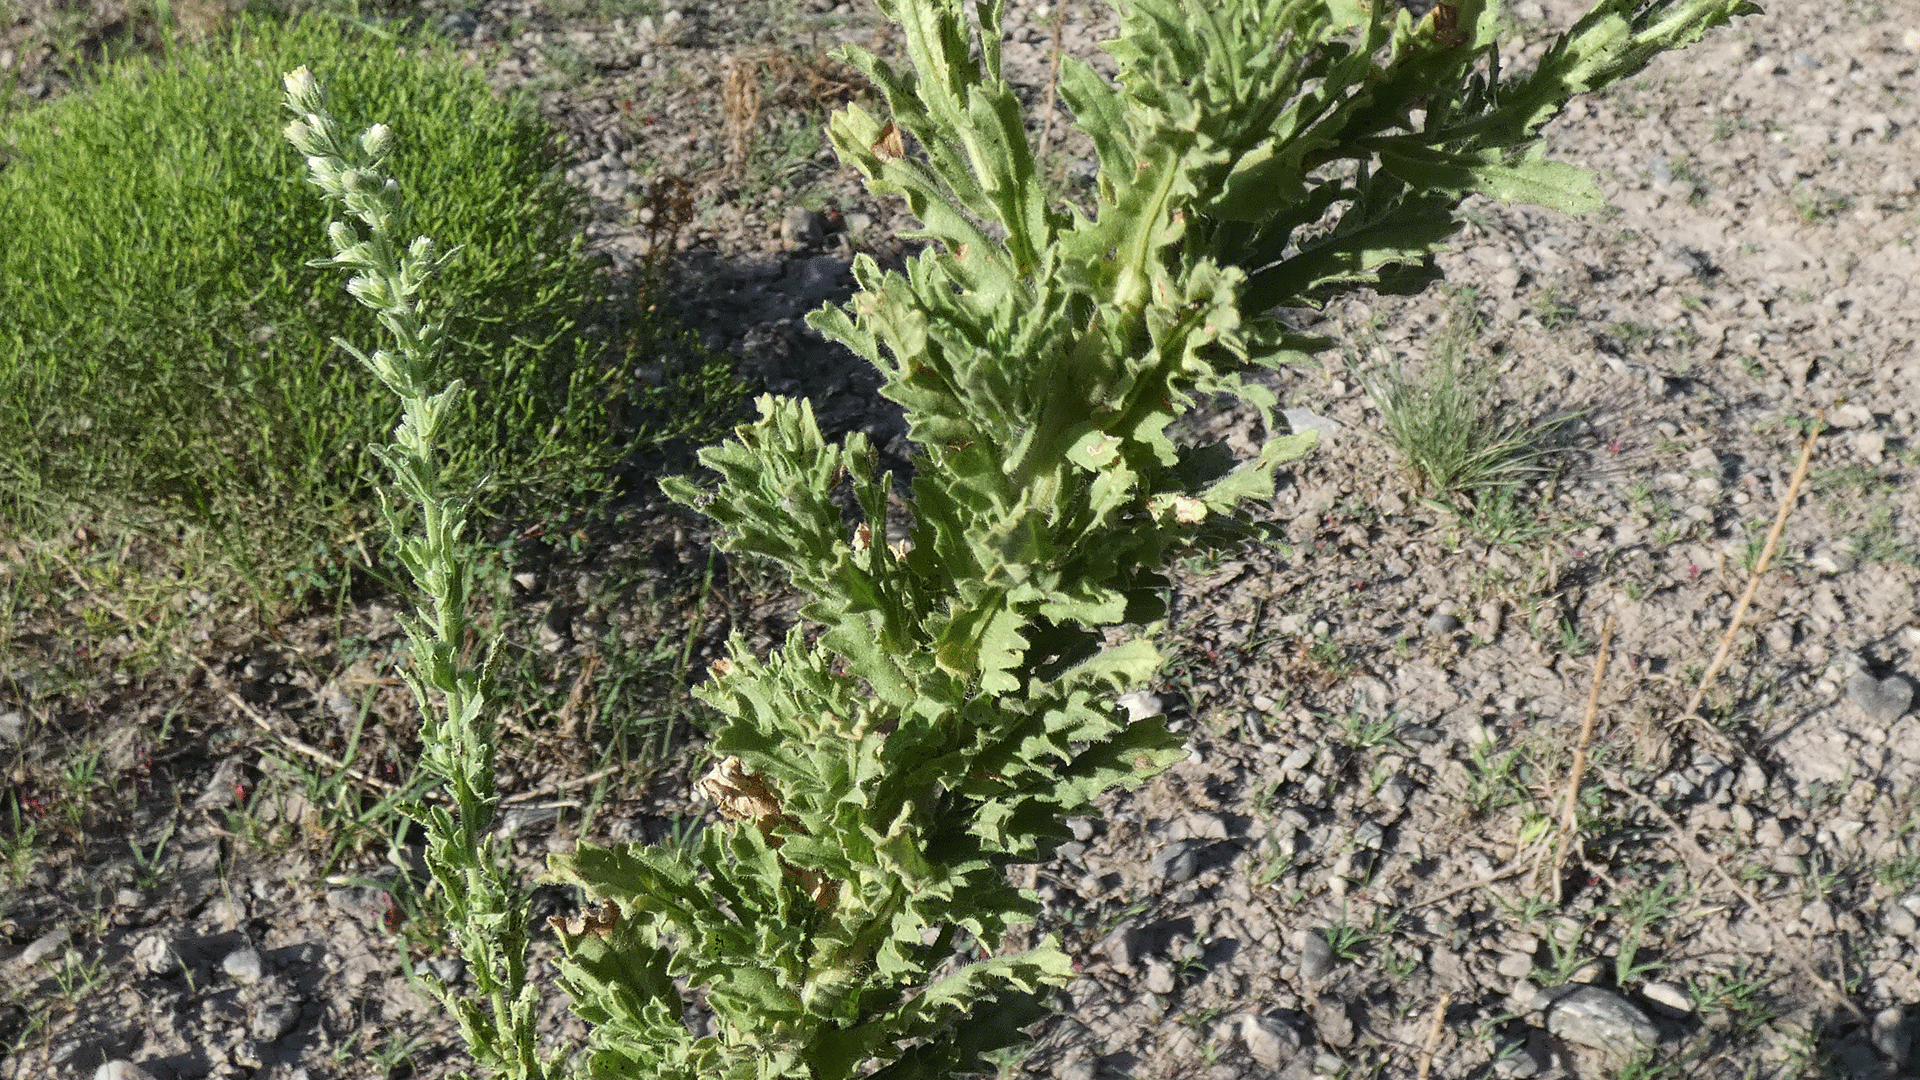
[[[305,154],[307,179],[367,227],[363,234],[334,221],[326,229],[334,256],[309,265],[351,271],[348,292],[374,309],[394,336],[392,352],[380,348],[372,356],[342,338],[334,344],[399,398],[403,411],[394,442],[374,452],[419,513],[419,532],[409,532],[403,513],[382,492],[380,511],[420,590],[419,611],[401,617],[413,646],[413,665],[403,676],[422,719],[420,767],[442,780],[451,801],[451,809],[415,803],[409,813],[426,828],[426,865],[474,992],[455,992],[432,976],[426,984],[457,1017],[474,1061],[490,1074],[545,1080],[557,1072],[534,1049],[540,1009],[538,990],[526,980],[526,890],[492,836],[499,801],[493,782],[499,642],[488,648],[480,665],[461,657],[472,628],[467,617],[472,573],[461,557],[468,503],[445,492],[438,440],[467,388],[457,379],[438,386],[434,352],[444,323],[430,319],[419,300],[420,286],[457,250],[436,252],[426,236],[399,248],[409,213],[399,184],[382,173],[394,148],[386,125],[342,140],[326,92],[305,67],[286,75],[286,108],[300,117],[286,125],[286,140]]]

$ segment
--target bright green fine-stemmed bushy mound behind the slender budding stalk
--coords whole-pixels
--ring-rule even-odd
[[[0,244],[0,521],[204,544],[269,603],[392,567],[369,527],[396,404],[330,344],[357,304],[301,265],[326,219],[273,136],[271,79],[300,61],[349,119],[405,115],[436,148],[397,179],[422,229],[470,252],[440,279],[438,363],[472,386],[444,450],[484,509],[591,509],[636,450],[737,402],[724,363],[584,258],[564,150],[530,102],[392,31],[244,17],[0,125],[0,234],[31,238]]]

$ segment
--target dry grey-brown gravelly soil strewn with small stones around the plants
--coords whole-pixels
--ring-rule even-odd
[[[1538,56],[1574,13],[1519,4],[1515,52]],[[1920,1076],[1912,13],[1782,0],[1663,58],[1549,129],[1609,211],[1475,202],[1442,259],[1471,296],[1317,315],[1348,354],[1275,382],[1323,448],[1283,477],[1265,544],[1181,563],[1175,661],[1129,701],[1177,717],[1192,753],[1027,871],[1046,905],[1035,932],[1064,934],[1079,974],[1004,1074]],[[1035,127],[1056,15],[1069,52],[1110,29],[1087,4],[1012,4],[1006,58]],[[540,86],[570,133],[611,269],[670,248],[662,304],[768,388],[812,396],[829,429],[902,452],[874,379],[801,321],[847,296],[854,252],[904,250],[900,208],[868,200],[808,136],[860,92],[822,50],[883,40],[870,8],[599,17],[501,2],[436,17],[476,56],[511,38],[493,79]],[[735,92],[730,111],[737,71],[756,75],[756,110]],[[40,79],[60,90],[58,71]],[[1091,165],[1052,136],[1071,192]],[[662,225],[672,179],[697,208],[678,234]],[[1386,465],[1363,388],[1365,371],[1440,348],[1461,311],[1515,415],[1571,417],[1553,484],[1503,519],[1482,507],[1478,527]],[[1828,429],[1772,569],[1686,719],[1816,415]],[[1229,442],[1252,425],[1194,421]],[[695,523],[647,521],[612,550],[666,546],[670,573],[705,563]],[[530,598],[557,611],[591,573],[555,571]],[[732,625],[780,634],[791,605],[766,596]],[[378,605],[346,619],[397,636]],[[227,686],[298,730],[328,723],[344,692],[380,680],[328,651],[317,626],[332,621],[207,655],[225,676],[196,682],[194,707],[244,726],[215,694]],[[584,648],[553,626],[555,655]],[[138,723],[108,765],[129,774],[148,755],[154,796],[129,834],[150,844],[173,822],[163,874],[83,844],[8,897],[15,1051],[0,1076],[455,1070],[457,1036],[399,974],[401,949],[430,951],[394,932],[405,913],[369,884],[378,851],[323,876],[309,847],[244,844],[219,811],[265,774],[263,749],[202,742],[165,761],[140,732],[169,698],[119,705]],[[384,715],[405,723],[403,705]],[[0,738],[25,723],[0,717]],[[1553,832],[1580,746],[1582,826],[1555,865],[1534,840]],[[509,794],[553,780],[507,769]],[[574,834],[553,817],[566,807],[524,803],[513,824],[534,872]],[[288,798],[267,819],[305,813]],[[685,767],[597,834],[653,838],[674,813],[701,813]],[[541,911],[564,903],[540,896]],[[553,1038],[576,1036],[553,1011]]]

